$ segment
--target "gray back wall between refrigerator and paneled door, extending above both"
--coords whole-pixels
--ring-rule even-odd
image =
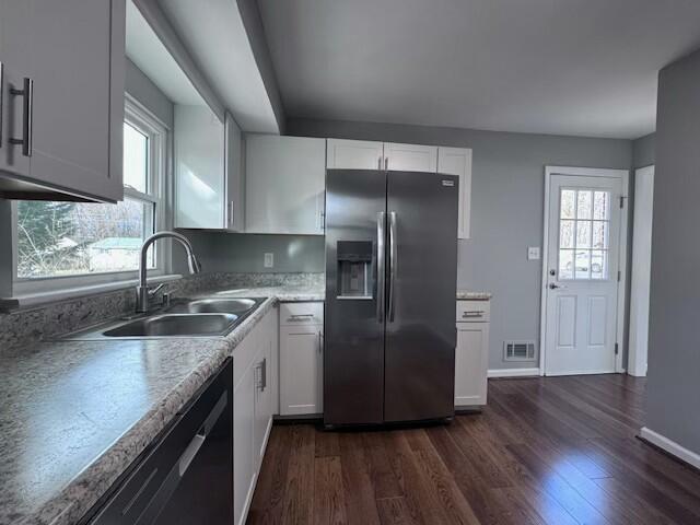
[[[457,128],[290,119],[289,135],[469,147],[474,149],[471,238],[459,242],[458,287],[493,293],[490,369],[505,363],[506,339],[539,339],[545,165],[630,167],[629,140],[585,139]]]

